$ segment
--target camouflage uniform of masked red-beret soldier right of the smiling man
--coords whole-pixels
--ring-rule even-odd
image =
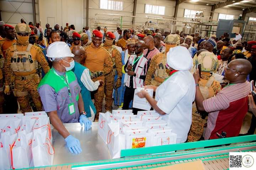
[[[113,103],[113,85],[114,85],[114,76],[117,72],[118,77],[122,78],[122,58],[120,52],[116,49],[114,45],[107,46],[105,44],[101,44],[112,56],[113,60],[113,70],[105,75],[105,109],[106,111],[112,110]]]

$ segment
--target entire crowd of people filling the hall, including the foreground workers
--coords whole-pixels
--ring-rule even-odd
[[[205,126],[206,140],[223,131],[238,136],[248,109],[254,115],[247,134],[254,134],[249,81],[256,81],[256,41],[148,28],[76,32],[68,23],[43,30],[24,19],[15,27],[0,21],[0,35],[0,113],[17,113],[17,102],[22,113],[46,111],[68,147],[75,146],[70,152],[80,153],[80,143],[63,123],[90,129],[104,97],[106,111],[114,104],[137,114],[137,87],[154,90],[155,97],[135,95],[167,121],[177,143],[200,140]]]

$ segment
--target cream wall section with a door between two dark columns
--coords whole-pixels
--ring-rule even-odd
[[[50,27],[55,24],[65,27],[66,23],[74,24],[76,30],[83,27],[83,5],[84,0],[39,0],[40,22],[43,28],[48,22],[52,22]],[[54,23],[53,23],[54,22]]]

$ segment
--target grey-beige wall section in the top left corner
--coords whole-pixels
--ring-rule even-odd
[[[25,19],[27,24],[30,21],[33,22],[32,0],[22,2],[19,0],[0,1],[1,17],[5,23],[15,26],[20,23],[21,18]],[[36,0],[36,21],[39,22],[38,0]]]

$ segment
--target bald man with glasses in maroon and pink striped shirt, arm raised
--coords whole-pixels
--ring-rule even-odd
[[[199,72],[194,73],[196,82],[196,105],[199,111],[209,113],[205,140],[219,138],[217,133],[226,132],[227,137],[238,136],[248,111],[250,83],[246,81],[251,63],[244,59],[231,61],[225,68],[224,79],[229,81],[216,96],[204,100],[199,89]]]

